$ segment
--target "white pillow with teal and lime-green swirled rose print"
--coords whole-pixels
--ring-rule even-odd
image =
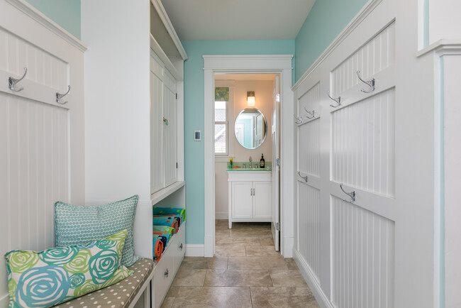
[[[6,253],[9,307],[50,307],[133,273],[120,266],[127,231],[87,245]]]

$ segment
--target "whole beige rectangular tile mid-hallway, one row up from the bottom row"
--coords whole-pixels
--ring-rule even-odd
[[[205,287],[272,287],[267,270],[207,270]]]

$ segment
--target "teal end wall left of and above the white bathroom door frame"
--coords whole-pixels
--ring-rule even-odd
[[[193,40],[183,41],[184,157],[188,244],[203,244],[204,138],[194,141],[194,130],[204,132],[204,59],[202,55],[293,55],[294,40]]]

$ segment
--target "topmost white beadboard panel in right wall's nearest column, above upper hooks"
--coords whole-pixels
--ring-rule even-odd
[[[345,59],[331,72],[333,97],[361,83],[357,78],[360,70],[362,79],[370,79],[374,74],[394,65],[395,62],[395,22],[377,33],[359,50]]]

